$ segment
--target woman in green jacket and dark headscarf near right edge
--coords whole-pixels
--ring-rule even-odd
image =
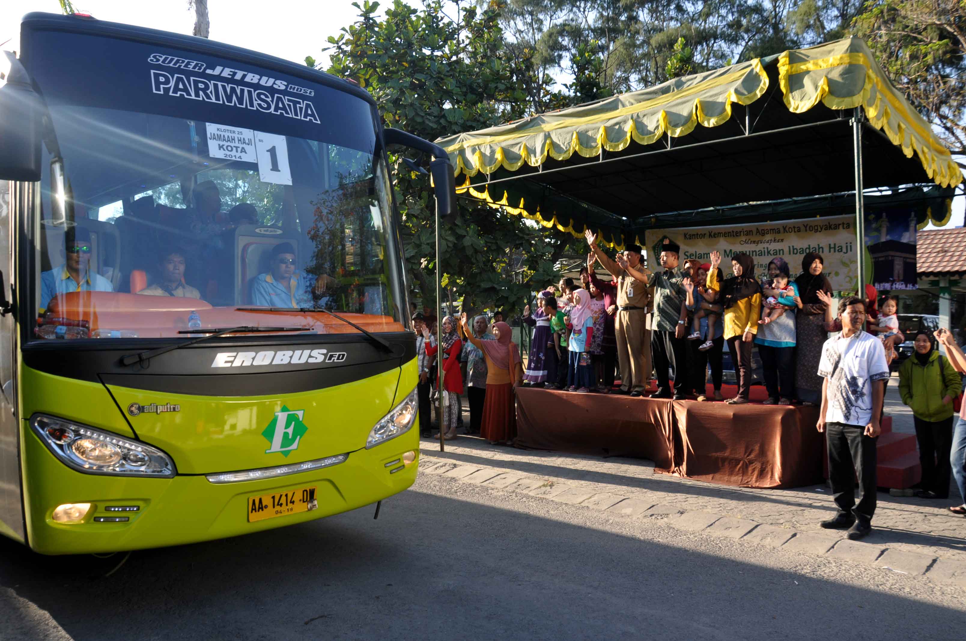
[[[933,349],[929,332],[916,334],[916,351],[899,367],[899,394],[912,409],[923,482],[916,495],[948,498],[952,449],[952,400],[959,395],[961,377],[952,363]]]

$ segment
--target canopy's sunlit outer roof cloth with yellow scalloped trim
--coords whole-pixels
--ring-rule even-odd
[[[857,38],[788,50],[764,63],[755,59],[675,78],[517,123],[442,138],[438,144],[449,153],[456,175],[462,172],[467,177],[498,168],[516,171],[524,163],[540,166],[548,156],[566,160],[575,152],[589,157],[605,150],[620,151],[632,140],[648,145],[664,135],[688,135],[698,124],[724,124],[731,117],[732,104],[751,104],[765,94],[769,79],[764,66],[773,64],[778,66],[781,92],[790,111],[808,111],[819,101],[832,109],[862,105],[869,123],[907,157],[915,153],[936,184],[955,186],[963,180],[950,151],[895,90],[866,42]]]

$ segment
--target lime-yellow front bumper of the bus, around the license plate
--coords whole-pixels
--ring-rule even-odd
[[[42,554],[118,552],[235,537],[354,510],[412,486],[419,462],[417,427],[371,450],[352,452],[331,467],[223,485],[204,475],[84,474],[57,460],[33,431],[21,432],[24,477],[31,479],[24,486],[27,540]],[[249,521],[252,497],[304,488],[315,488],[317,508]],[[80,522],[55,521],[54,510],[69,503],[91,508]],[[128,519],[101,520],[123,517]]]

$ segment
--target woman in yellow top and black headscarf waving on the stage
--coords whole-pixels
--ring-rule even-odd
[[[758,333],[761,317],[761,285],[754,278],[754,260],[748,254],[735,254],[731,259],[730,278],[718,282],[718,265],[722,255],[711,252],[711,269],[707,286],[721,292],[720,300],[725,306],[725,343],[731,353],[731,362],[738,376],[738,396],[725,401],[727,404],[748,403],[752,385],[752,341]]]

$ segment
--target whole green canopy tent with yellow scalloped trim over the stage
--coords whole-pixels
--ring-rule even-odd
[[[861,220],[864,189],[963,180],[856,38],[437,142],[460,193],[617,248],[646,229],[737,222],[726,206],[850,192]]]

